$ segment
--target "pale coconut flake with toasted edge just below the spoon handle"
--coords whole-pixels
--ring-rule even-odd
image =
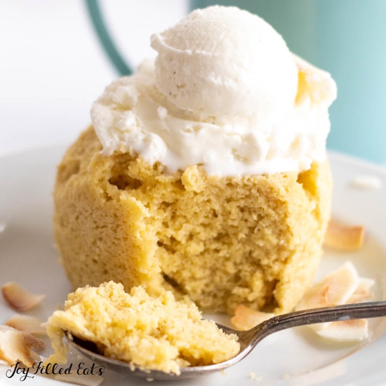
[[[369,337],[369,322],[366,319],[332,322],[318,334],[339,342],[360,342]]]

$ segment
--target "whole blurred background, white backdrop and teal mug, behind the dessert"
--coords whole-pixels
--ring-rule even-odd
[[[384,0],[1,0],[0,155],[74,141],[104,87],[154,57],[151,34],[210,4],[257,13],[330,72],[328,148],[386,166]]]

